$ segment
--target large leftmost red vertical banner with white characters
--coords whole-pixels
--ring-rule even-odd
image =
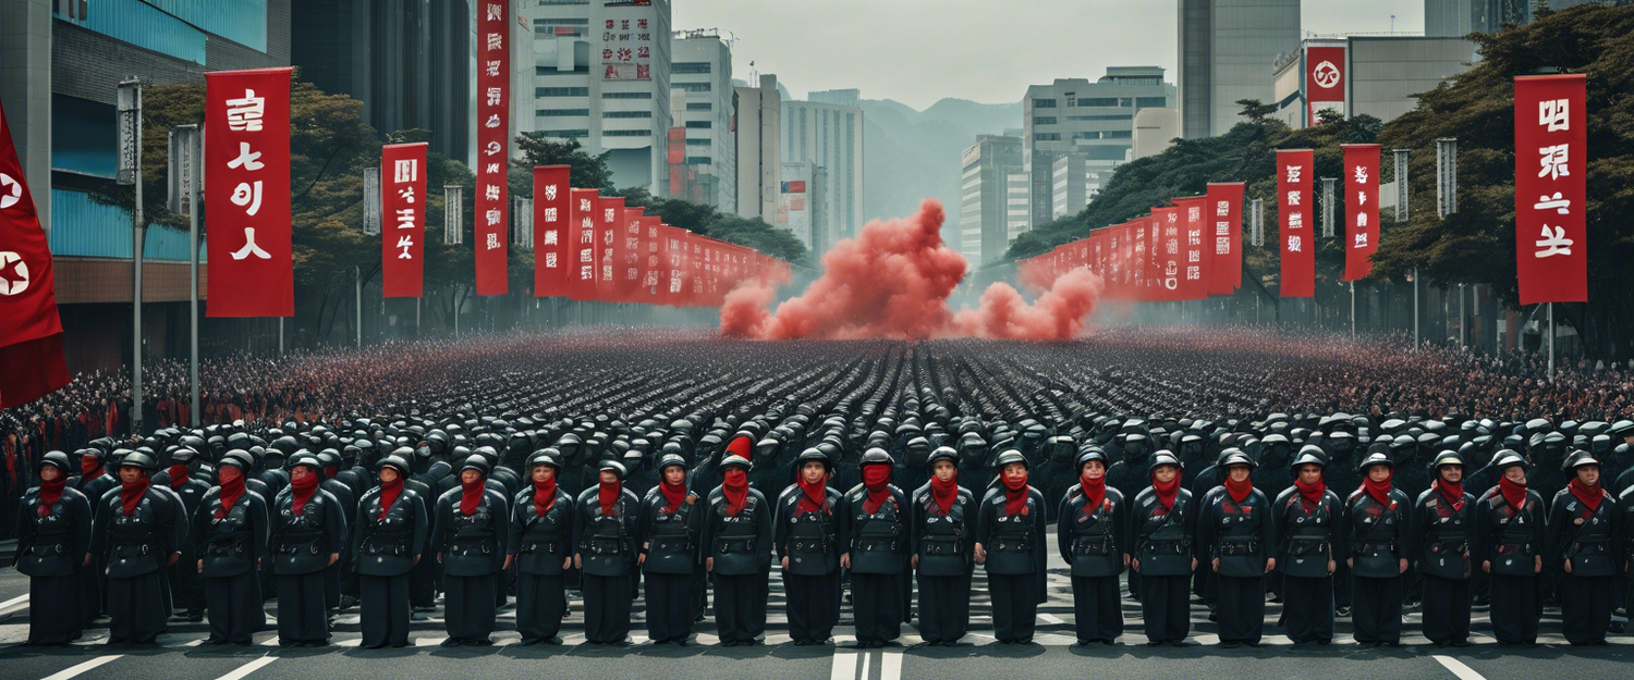
[[[204,73],[206,316],[294,316],[289,68]]]

